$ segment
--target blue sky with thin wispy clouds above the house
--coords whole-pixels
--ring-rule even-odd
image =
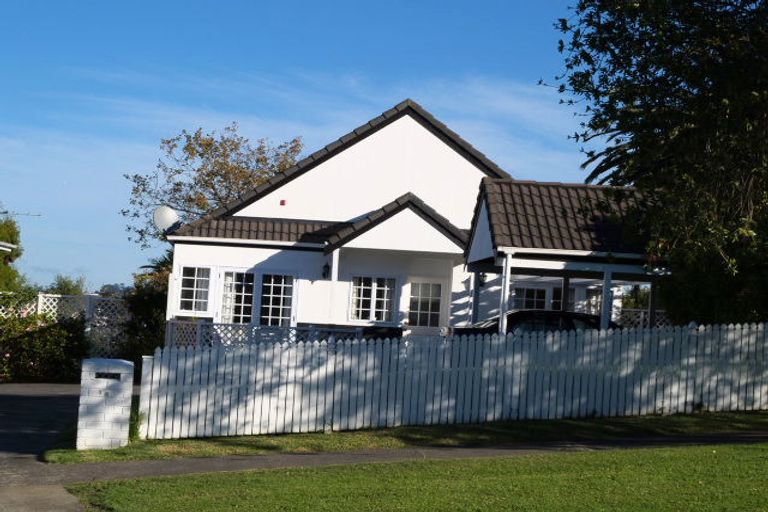
[[[0,16],[0,203],[19,268],[132,281],[127,172],[181,129],[238,121],[311,152],[406,97],[522,179],[582,181],[576,128],[536,85],[562,70],[564,1],[9,2]]]

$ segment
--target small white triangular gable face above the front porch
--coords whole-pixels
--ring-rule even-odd
[[[463,252],[461,247],[408,208],[350,240],[344,247],[454,254]]]

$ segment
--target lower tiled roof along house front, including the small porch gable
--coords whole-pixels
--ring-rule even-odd
[[[460,247],[467,243],[467,232],[457,228],[416,195],[407,193],[391,203],[353,221],[335,222],[264,217],[203,218],[181,226],[169,236],[194,238],[226,238],[240,240],[279,241],[325,244],[331,252],[397,213],[409,208]]]

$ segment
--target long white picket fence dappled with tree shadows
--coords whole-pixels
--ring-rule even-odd
[[[765,324],[171,347],[150,439],[768,408]]]

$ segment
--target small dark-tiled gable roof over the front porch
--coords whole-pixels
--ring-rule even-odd
[[[350,240],[362,235],[369,229],[381,224],[385,220],[394,216],[395,214],[409,208],[419,217],[430,223],[443,235],[453,240],[462,249],[466,246],[468,240],[468,233],[462,229],[457,228],[451,222],[437,213],[437,211],[431,206],[427,205],[424,201],[419,199],[418,196],[408,192],[398,197],[389,204],[386,204],[374,210],[362,218],[356,220],[354,223],[348,224],[342,227],[340,230],[331,234],[328,237],[328,246],[326,252],[331,252],[338,247],[343,246]]]

